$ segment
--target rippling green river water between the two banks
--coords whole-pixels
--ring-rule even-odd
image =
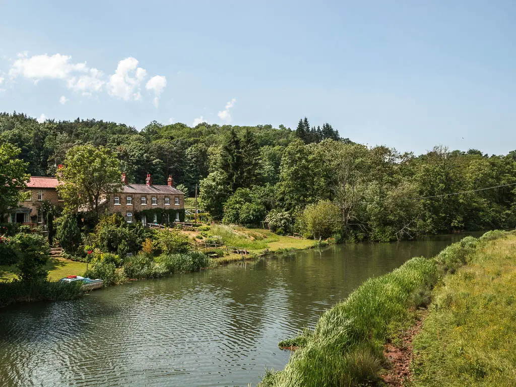
[[[0,386],[247,386],[369,277],[463,235],[310,250],[0,310]]]

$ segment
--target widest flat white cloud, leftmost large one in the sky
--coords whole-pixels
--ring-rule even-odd
[[[72,57],[68,55],[54,54],[52,56],[34,55],[29,57],[26,52],[18,54],[18,59],[12,63],[9,75],[14,78],[21,75],[34,79],[37,83],[40,79],[65,79],[71,72],[86,72],[88,67],[84,63],[72,63]]]

